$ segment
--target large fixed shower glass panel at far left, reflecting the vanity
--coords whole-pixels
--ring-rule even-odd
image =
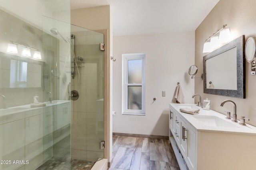
[[[11,0],[0,5],[0,160],[10,160],[0,164],[0,170],[70,170],[68,85],[62,86],[62,77],[51,72],[53,63],[60,68],[62,48],[67,49],[64,58],[70,58],[70,45],[60,45],[47,28],[61,27],[59,33],[66,37],[70,23],[42,17],[70,20],[70,1],[31,2]],[[24,47],[30,47],[30,57],[22,54]],[[56,157],[62,159],[61,167],[48,162]]]

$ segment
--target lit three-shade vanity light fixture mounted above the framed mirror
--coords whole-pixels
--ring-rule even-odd
[[[226,28],[227,24],[223,25],[216,33],[205,40],[203,53],[210,53],[212,50],[220,47],[220,43],[227,43],[230,41],[230,30]],[[217,36],[217,34],[219,36]]]

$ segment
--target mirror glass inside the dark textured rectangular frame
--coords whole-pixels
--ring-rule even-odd
[[[237,90],[236,50],[235,47],[206,60],[206,88]]]

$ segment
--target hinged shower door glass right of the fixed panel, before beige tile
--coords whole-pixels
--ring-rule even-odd
[[[71,159],[93,164],[103,158],[99,145],[104,141],[104,35],[71,25],[71,90],[79,93],[72,101]],[[74,52],[73,48],[74,47]],[[74,78],[73,78],[74,77]]]

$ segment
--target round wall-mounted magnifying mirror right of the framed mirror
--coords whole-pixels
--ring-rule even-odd
[[[246,60],[250,63],[250,71],[252,75],[255,75],[256,72],[256,37],[248,38],[246,45],[245,45],[245,57]]]

